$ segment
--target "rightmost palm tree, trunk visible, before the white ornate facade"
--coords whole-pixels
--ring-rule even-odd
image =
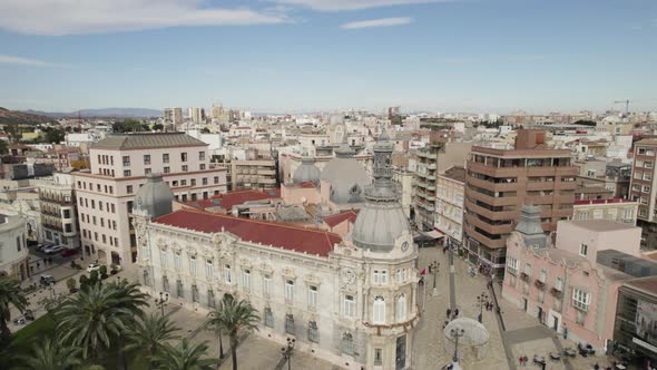
[[[212,311],[206,322],[207,327],[226,330],[231,338],[231,356],[233,357],[233,370],[237,370],[237,333],[241,330],[258,330],[261,318],[257,310],[248,301],[237,302],[231,294],[225,294],[219,308]],[[220,338],[220,337],[219,337]]]

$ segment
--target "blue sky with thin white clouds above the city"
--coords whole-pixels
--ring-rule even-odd
[[[656,0],[1,0],[0,106],[657,110]]]

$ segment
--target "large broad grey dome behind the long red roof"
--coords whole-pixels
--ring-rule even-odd
[[[372,183],[365,168],[353,157],[331,159],[321,178],[331,184],[331,201],[336,204],[363,202],[363,191]]]

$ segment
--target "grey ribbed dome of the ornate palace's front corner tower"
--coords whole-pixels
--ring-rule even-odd
[[[410,233],[410,230],[399,202],[367,202],[359,212],[352,240],[356,246],[372,252],[390,252],[403,232]]]

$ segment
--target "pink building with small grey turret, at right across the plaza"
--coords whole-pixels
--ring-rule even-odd
[[[614,224],[614,225],[611,225]],[[597,261],[598,251],[638,253],[640,230],[609,221],[558,223],[552,245],[540,224],[540,207],[524,206],[507,241],[502,298],[542,324],[604,353],[614,338],[618,289],[635,276]],[[630,254],[630,255],[628,255]]]

